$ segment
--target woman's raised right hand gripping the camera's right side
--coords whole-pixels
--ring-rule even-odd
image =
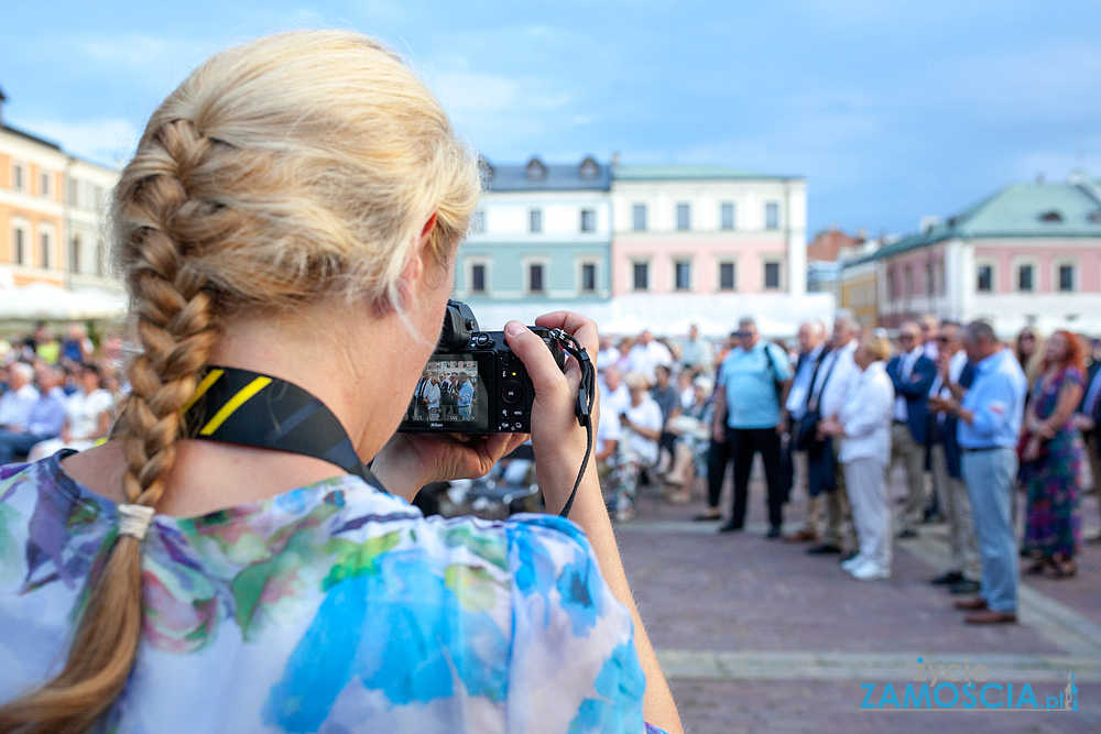
[[[578,343],[593,360],[599,346],[597,325],[591,320],[569,311],[546,314],[535,319],[535,325],[545,329],[562,329],[577,339]],[[581,383],[581,368],[574,358],[566,361],[563,372],[554,361],[550,350],[520,321],[509,321],[504,326],[509,347],[524,363],[535,387],[535,403],[532,406],[532,448],[535,450],[535,471],[543,499],[547,507],[556,512],[562,508],[574,487],[574,480],[585,458],[585,428],[577,421],[574,406]],[[592,436],[597,435],[599,401],[592,404]],[[592,470],[589,459],[587,471]]]

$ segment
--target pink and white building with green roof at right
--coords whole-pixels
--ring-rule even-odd
[[[1101,189],[1011,185],[944,222],[846,263],[842,288],[875,269],[880,322],[922,314],[1101,333]],[[842,298],[843,303],[843,298]]]

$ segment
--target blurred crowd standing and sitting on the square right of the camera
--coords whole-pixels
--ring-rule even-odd
[[[840,314],[830,333],[803,324],[788,349],[743,318],[718,350],[695,327],[686,341],[606,338],[598,366],[596,458],[620,521],[634,515],[641,483],[686,503],[698,481],[707,508],[694,519],[742,530],[760,454],[767,536],[839,556],[855,579],[890,578],[896,538],[947,523],[950,567],[930,581],[968,595],[956,603],[967,622],[1016,621],[1021,557],[1025,573],[1076,573],[1080,496],[1101,483],[1101,340],[1045,340],[1029,327],[1004,342],[985,321],[927,316],[892,342]],[[900,467],[905,494],[893,512]],[[794,489],[806,513],[785,536]]]

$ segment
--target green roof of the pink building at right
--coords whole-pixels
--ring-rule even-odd
[[[1011,184],[947,221],[850,260],[846,266],[946,240],[1078,237],[1101,239],[1101,188],[1081,175],[1059,184]]]

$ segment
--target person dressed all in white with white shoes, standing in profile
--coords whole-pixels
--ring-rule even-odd
[[[844,483],[852,505],[852,521],[860,541],[859,552],[841,567],[854,579],[891,578],[891,511],[887,507],[884,469],[891,458],[891,417],[894,385],[884,363],[891,343],[882,336],[861,340],[852,355],[859,372],[837,419],[819,426],[825,436],[840,436],[838,460],[844,467]]]

